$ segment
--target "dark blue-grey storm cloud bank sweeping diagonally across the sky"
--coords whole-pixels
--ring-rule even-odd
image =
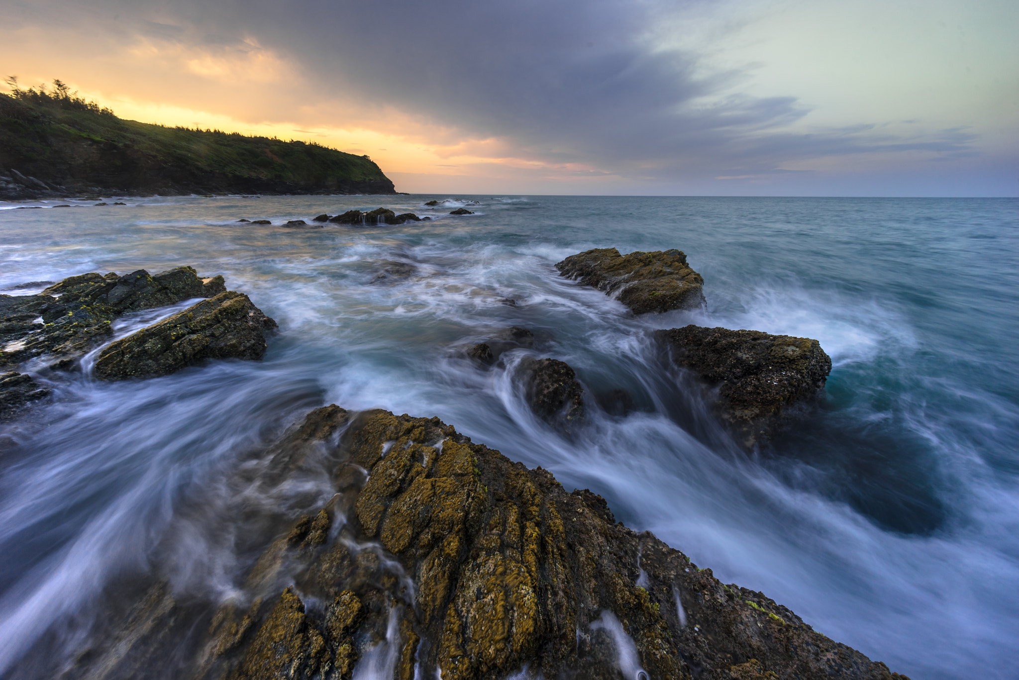
[[[922,140],[866,126],[780,132],[808,112],[795,98],[722,97],[746,74],[707,70],[697,54],[652,40],[675,6],[103,0],[67,10],[85,23],[107,19],[97,30],[115,15],[118,30],[194,46],[246,49],[253,38],[288,55],[313,84],[294,106],[338,100],[368,111],[394,107],[464,136],[500,138],[518,157],[624,174],[767,173],[822,155],[968,150],[972,137],[961,130]]]

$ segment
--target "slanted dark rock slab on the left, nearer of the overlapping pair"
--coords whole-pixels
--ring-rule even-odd
[[[233,291],[112,343],[96,360],[102,380],[166,375],[204,359],[261,359],[276,322]]]

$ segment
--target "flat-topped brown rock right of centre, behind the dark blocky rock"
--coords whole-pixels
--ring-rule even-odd
[[[620,255],[597,248],[555,265],[559,273],[614,296],[634,314],[692,309],[704,304],[704,279],[678,250]]]

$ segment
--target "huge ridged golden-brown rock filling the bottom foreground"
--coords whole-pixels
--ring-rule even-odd
[[[275,482],[328,461],[337,494],[225,603],[153,575],[61,677],[903,678],[438,418],[324,407],[268,457]]]

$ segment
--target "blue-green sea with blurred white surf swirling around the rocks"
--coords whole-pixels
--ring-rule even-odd
[[[432,198],[0,210],[0,289],[192,264],[281,328],[264,362],[141,383],[30,367],[58,400],[0,433],[0,669],[44,677],[26,650],[71,658],[98,593],[124,575],[168,575],[210,601],[235,592],[250,556],[223,518],[297,516],[332,494],[324,476],[254,495],[237,481],[258,466],[251,452],[336,403],[437,415],[589,487],[629,526],[894,671],[1014,677],[1019,201],[461,196],[425,208]],[[475,215],[446,214],[468,201]],[[278,226],[379,205],[435,219]],[[707,308],[634,318],[556,275],[595,247],[683,250]],[[649,342],[687,323],[818,338],[834,363],[824,402],[747,457]],[[573,366],[590,404],[623,387],[637,411],[592,406],[571,436],[547,427],[514,379],[526,351],[492,371],[460,356],[511,325]]]

